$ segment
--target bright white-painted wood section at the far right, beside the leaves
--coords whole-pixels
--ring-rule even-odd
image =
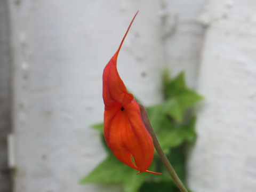
[[[197,192],[256,191],[256,1],[209,1],[198,91],[205,96],[188,161]]]

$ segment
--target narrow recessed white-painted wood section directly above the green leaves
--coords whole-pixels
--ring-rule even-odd
[[[206,0],[162,1],[165,65],[174,77],[185,71],[187,85],[196,87],[204,27],[198,21]]]

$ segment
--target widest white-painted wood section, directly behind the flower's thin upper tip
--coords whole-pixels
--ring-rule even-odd
[[[161,100],[158,4],[9,1],[17,151],[14,191],[120,191],[78,185],[106,157],[99,133],[89,126],[103,121],[102,71],[138,9],[119,54],[118,70],[143,103]]]

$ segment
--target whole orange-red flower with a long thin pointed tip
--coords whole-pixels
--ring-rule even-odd
[[[138,173],[156,173],[147,170],[154,156],[152,138],[142,122],[139,104],[133,95],[127,92],[116,68],[119,50],[132,22],[117,52],[103,71],[104,135],[108,147],[119,161],[138,170]]]

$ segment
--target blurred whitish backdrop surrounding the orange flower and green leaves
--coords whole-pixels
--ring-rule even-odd
[[[122,191],[78,181],[106,158],[90,125],[103,120],[102,71],[137,10],[118,57],[127,88],[160,102],[167,67],[204,96],[189,187],[256,191],[253,0],[0,0],[0,191]]]

